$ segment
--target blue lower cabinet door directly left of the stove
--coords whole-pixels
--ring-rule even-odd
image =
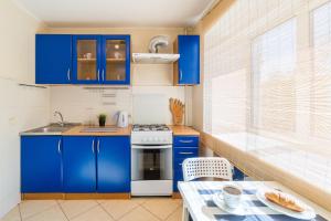
[[[130,137],[97,139],[97,191],[130,192]]]

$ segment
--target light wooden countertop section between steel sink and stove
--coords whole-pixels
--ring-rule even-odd
[[[64,133],[62,136],[130,136],[131,135],[131,126],[126,128],[116,127],[116,131],[82,131],[84,128],[90,128],[90,126],[76,126]],[[107,126],[106,126],[107,127]],[[111,126],[114,127],[114,126]],[[96,127],[97,128],[97,127]]]

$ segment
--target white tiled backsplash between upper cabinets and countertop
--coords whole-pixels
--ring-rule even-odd
[[[164,99],[167,99],[164,102],[168,102],[170,97],[181,101],[185,101],[188,97],[185,96],[185,88],[178,86],[131,86],[127,88],[52,86],[51,120],[58,120],[53,116],[53,113],[60,110],[67,122],[97,125],[97,115],[105,113],[107,114],[107,124],[116,124],[114,115],[118,110],[127,110],[132,116],[132,97],[135,94],[163,94]],[[171,124],[172,117],[169,108],[164,108],[163,112],[164,123]],[[130,123],[132,122],[134,119],[130,118]]]

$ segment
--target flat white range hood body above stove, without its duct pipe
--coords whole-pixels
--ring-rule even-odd
[[[169,64],[175,62],[179,57],[179,54],[132,53],[134,62],[142,64]]]

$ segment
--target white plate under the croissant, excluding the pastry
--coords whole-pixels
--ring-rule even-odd
[[[263,203],[265,203],[268,208],[270,208],[271,210],[275,210],[276,212],[286,214],[288,217],[292,217],[292,218],[297,218],[297,219],[301,219],[301,220],[311,220],[313,218],[316,218],[316,212],[314,210],[307,206],[306,203],[297,200],[295,197],[292,197],[291,194],[285,193],[285,192],[280,192],[281,194],[285,194],[286,197],[292,199],[296,201],[297,204],[299,204],[300,207],[302,207],[305,209],[303,212],[295,212],[292,210],[286,209],[284,207],[280,207],[274,202],[270,202],[266,197],[265,193],[268,191],[273,191],[273,192],[278,192],[277,190],[274,189],[266,189],[266,188],[261,188],[256,192],[256,197],[259,201],[261,201]]]

